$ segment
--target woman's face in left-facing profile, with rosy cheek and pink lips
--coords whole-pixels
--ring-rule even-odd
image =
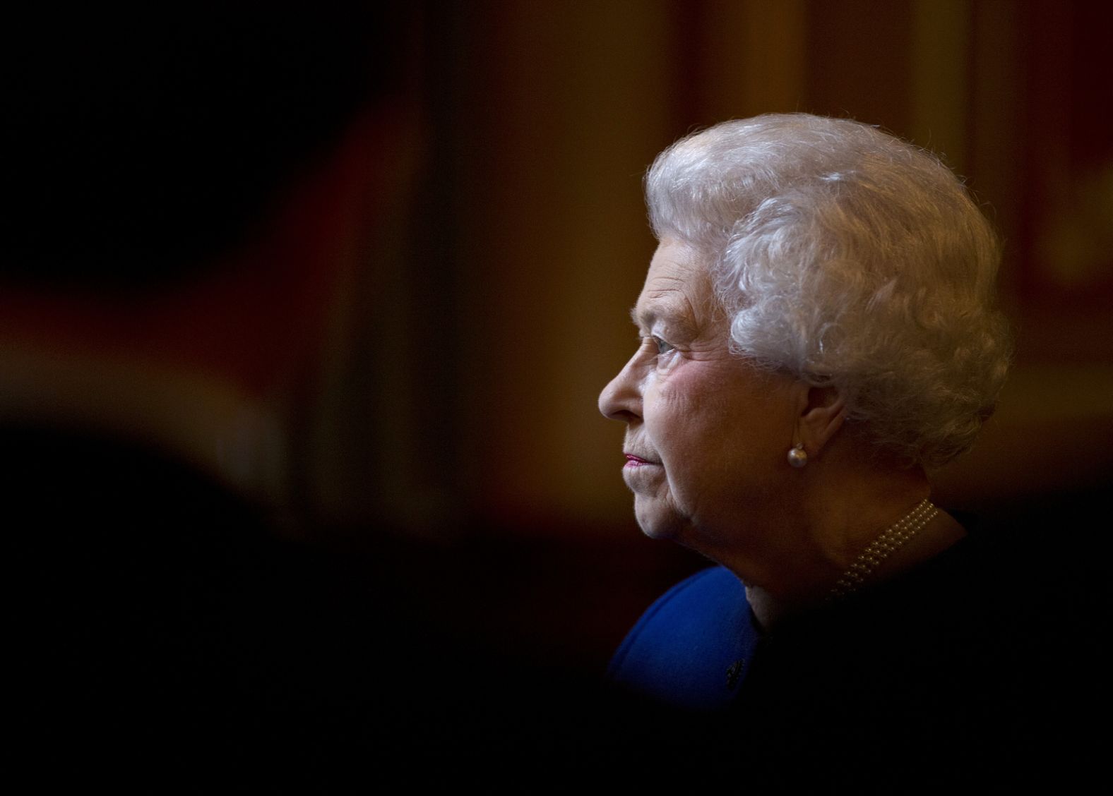
[[[638,524],[712,557],[737,550],[747,517],[790,497],[797,382],[729,351],[708,271],[686,243],[658,247],[633,317],[641,345],[599,407],[627,424]]]

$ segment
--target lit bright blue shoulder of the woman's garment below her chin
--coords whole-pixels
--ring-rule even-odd
[[[735,698],[757,645],[746,587],[725,567],[697,573],[647,610],[611,660],[615,683],[679,707]]]

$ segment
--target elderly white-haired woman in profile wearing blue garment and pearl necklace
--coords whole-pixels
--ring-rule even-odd
[[[974,201],[930,155],[802,113],[689,136],[646,193],[641,344],[599,406],[642,530],[721,566],[644,615],[611,677],[729,708],[774,755],[1007,729],[1040,659],[1020,580],[930,501],[1009,359]]]

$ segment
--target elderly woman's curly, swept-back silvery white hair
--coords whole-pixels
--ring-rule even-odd
[[[707,259],[735,352],[836,388],[909,465],[971,447],[1012,345],[997,238],[937,158],[856,121],[767,115],[669,147],[646,199],[659,240]]]

